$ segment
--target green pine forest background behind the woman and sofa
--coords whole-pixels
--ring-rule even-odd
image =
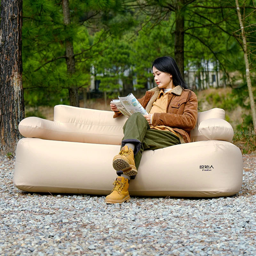
[[[223,108],[235,130],[233,143],[243,153],[254,151],[248,77],[254,103],[255,3],[23,0],[25,116],[51,119],[48,109],[57,104],[108,109],[111,99],[129,92],[140,98],[155,86],[153,60],[172,56],[198,96],[199,111]],[[195,79],[189,81],[191,72]]]

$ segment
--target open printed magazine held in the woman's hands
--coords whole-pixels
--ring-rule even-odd
[[[141,106],[140,102],[130,93],[126,97],[119,97],[119,100],[112,100],[110,103],[116,105],[116,108],[127,118],[133,113],[148,115],[147,111]]]

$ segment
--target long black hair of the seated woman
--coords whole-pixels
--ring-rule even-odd
[[[180,70],[176,61],[169,56],[164,56],[154,60],[152,68],[155,67],[161,72],[165,72],[172,75],[172,82],[174,87],[180,85],[182,89],[189,89],[184,79],[180,74]],[[190,89],[189,89],[190,90]]]

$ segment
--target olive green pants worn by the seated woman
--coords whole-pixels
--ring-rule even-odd
[[[125,122],[123,130],[124,138],[121,148],[125,143],[135,144],[134,161],[137,170],[144,150],[155,150],[180,144],[179,137],[174,133],[150,129],[148,121],[140,113],[132,114]],[[117,171],[118,175],[122,173],[122,171]],[[131,177],[131,179],[134,178],[135,175]]]

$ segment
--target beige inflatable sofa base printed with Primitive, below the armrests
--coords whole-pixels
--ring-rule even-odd
[[[18,142],[14,185],[24,191],[108,195],[116,178],[117,145],[23,138]],[[131,196],[232,196],[242,186],[239,148],[219,140],[143,152]]]

